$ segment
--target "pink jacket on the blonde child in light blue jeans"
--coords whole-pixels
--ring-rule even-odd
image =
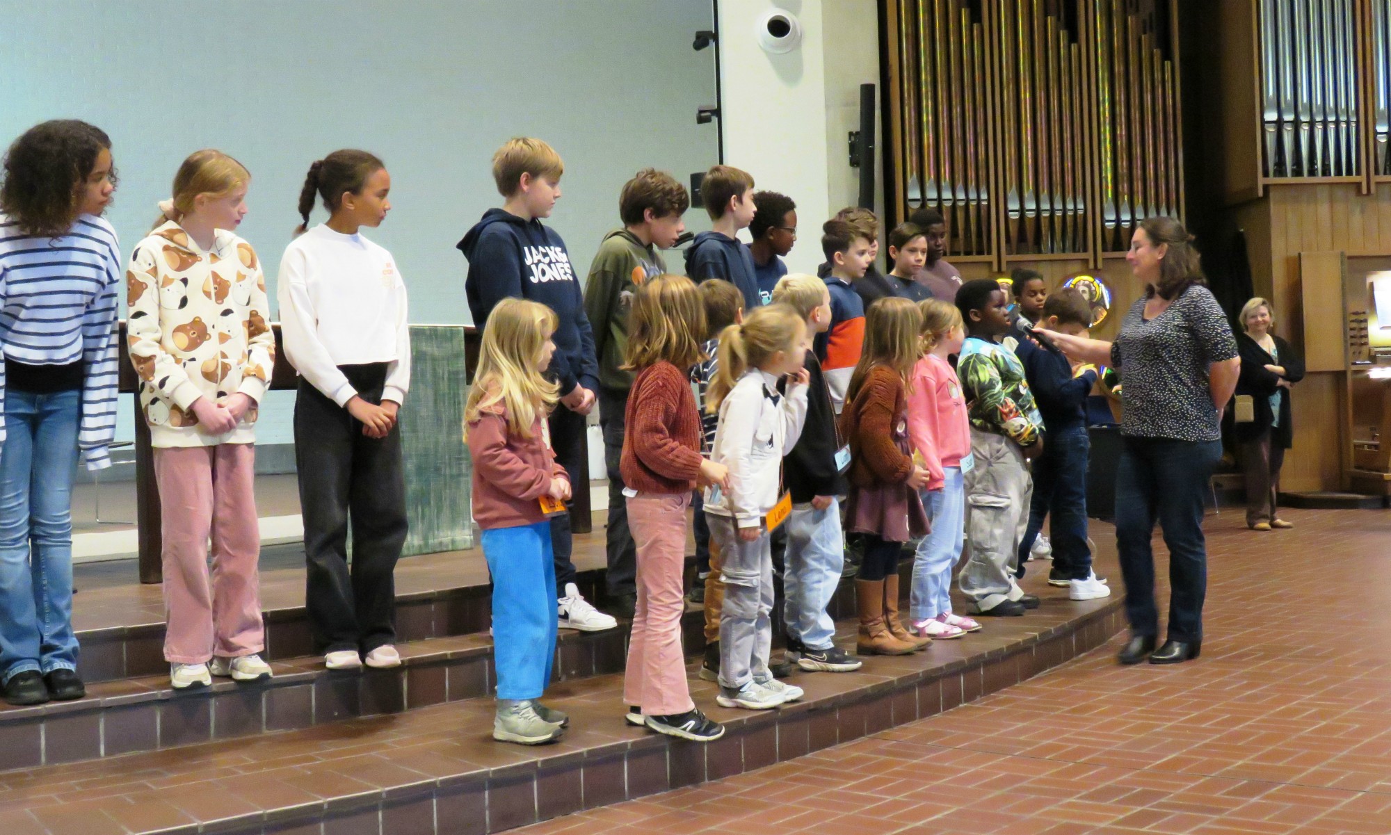
[[[961,381],[944,359],[931,353],[912,367],[908,394],[908,441],[926,462],[928,490],[942,490],[943,468],[961,466],[971,452],[971,419]]]

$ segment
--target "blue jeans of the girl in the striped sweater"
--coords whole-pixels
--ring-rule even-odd
[[[0,682],[77,669],[72,470],[81,391],[7,391],[0,450]]]

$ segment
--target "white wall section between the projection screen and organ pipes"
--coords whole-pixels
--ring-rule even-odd
[[[718,8],[725,161],[797,202],[800,235],[787,266],[814,271],[821,224],[860,196],[846,138],[858,128],[860,85],[879,84],[878,4],[718,0]],[[758,46],[755,29],[771,8],[797,15],[800,47],[769,54]]]

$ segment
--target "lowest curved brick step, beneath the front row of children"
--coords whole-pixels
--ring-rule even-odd
[[[1097,569],[1114,572],[1114,558]],[[715,707],[715,686],[694,676],[693,662],[697,704],[727,726],[711,745],[629,726],[622,675],[597,675],[549,689],[547,703],[572,715],[552,746],[492,742],[494,703],[473,697],[232,743],[10,771],[0,774],[0,832],[483,835],[719,779],[950,710],[1120,630],[1118,596],[1072,603],[1040,573],[1025,580],[1043,597],[1028,617],[990,619],[979,633],[914,655],[865,658],[853,674],[797,672],[805,699],[772,711]],[[853,623],[842,622],[837,640],[853,643]],[[445,682],[448,697],[448,675]],[[0,732],[0,747],[11,745],[8,733]]]

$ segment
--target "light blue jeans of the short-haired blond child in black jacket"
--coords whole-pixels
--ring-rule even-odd
[[[793,505],[787,516],[787,551],[783,569],[783,622],[787,636],[808,650],[829,650],[836,622],[826,607],[840,586],[846,565],[846,543],[840,536],[840,502],[818,511],[808,504]]]

